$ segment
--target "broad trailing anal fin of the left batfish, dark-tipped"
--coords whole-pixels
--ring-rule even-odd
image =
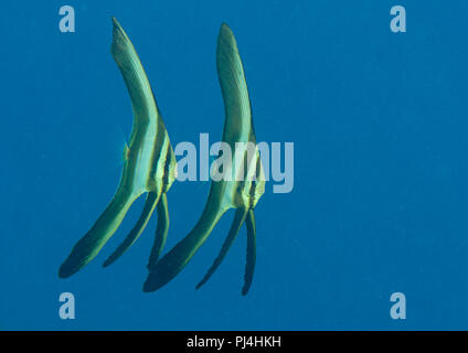
[[[73,247],[72,253],[60,267],[59,277],[67,278],[72,276],[99,253],[117,231],[128,208],[137,197],[138,195],[127,193],[120,189],[117,191],[113,201],[97,218],[93,227]]]

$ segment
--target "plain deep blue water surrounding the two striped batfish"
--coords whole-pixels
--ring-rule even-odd
[[[76,32],[59,31],[73,6]],[[390,30],[403,4],[407,32]],[[3,1],[0,6],[0,329],[468,329],[466,1]],[[233,29],[259,141],[295,143],[295,185],[259,201],[257,266],[241,296],[245,231],[200,290],[224,217],[168,286],[143,293],[156,217],[111,267],[59,266],[119,181],[130,100],[109,46],[117,17],[173,145],[221,139],[215,69]],[[170,190],[167,248],[200,216],[208,182]],[[76,319],[61,320],[72,292]],[[406,296],[392,320],[390,296]]]

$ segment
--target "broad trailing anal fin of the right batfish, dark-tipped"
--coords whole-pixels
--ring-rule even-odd
[[[151,268],[143,291],[155,291],[172,280],[187,266],[226,211],[213,206],[209,201],[194,228]]]

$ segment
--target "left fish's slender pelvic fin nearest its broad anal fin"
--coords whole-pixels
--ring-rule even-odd
[[[104,261],[103,267],[107,267],[116,261],[121,255],[124,255],[125,252],[130,248],[130,246],[135,244],[135,242],[137,242],[141,233],[145,231],[149,218],[151,218],[152,212],[155,211],[158,201],[159,194],[157,192],[149,192],[147,194],[143,210],[134,228],[124,239],[124,242],[115,249],[115,252]]]

